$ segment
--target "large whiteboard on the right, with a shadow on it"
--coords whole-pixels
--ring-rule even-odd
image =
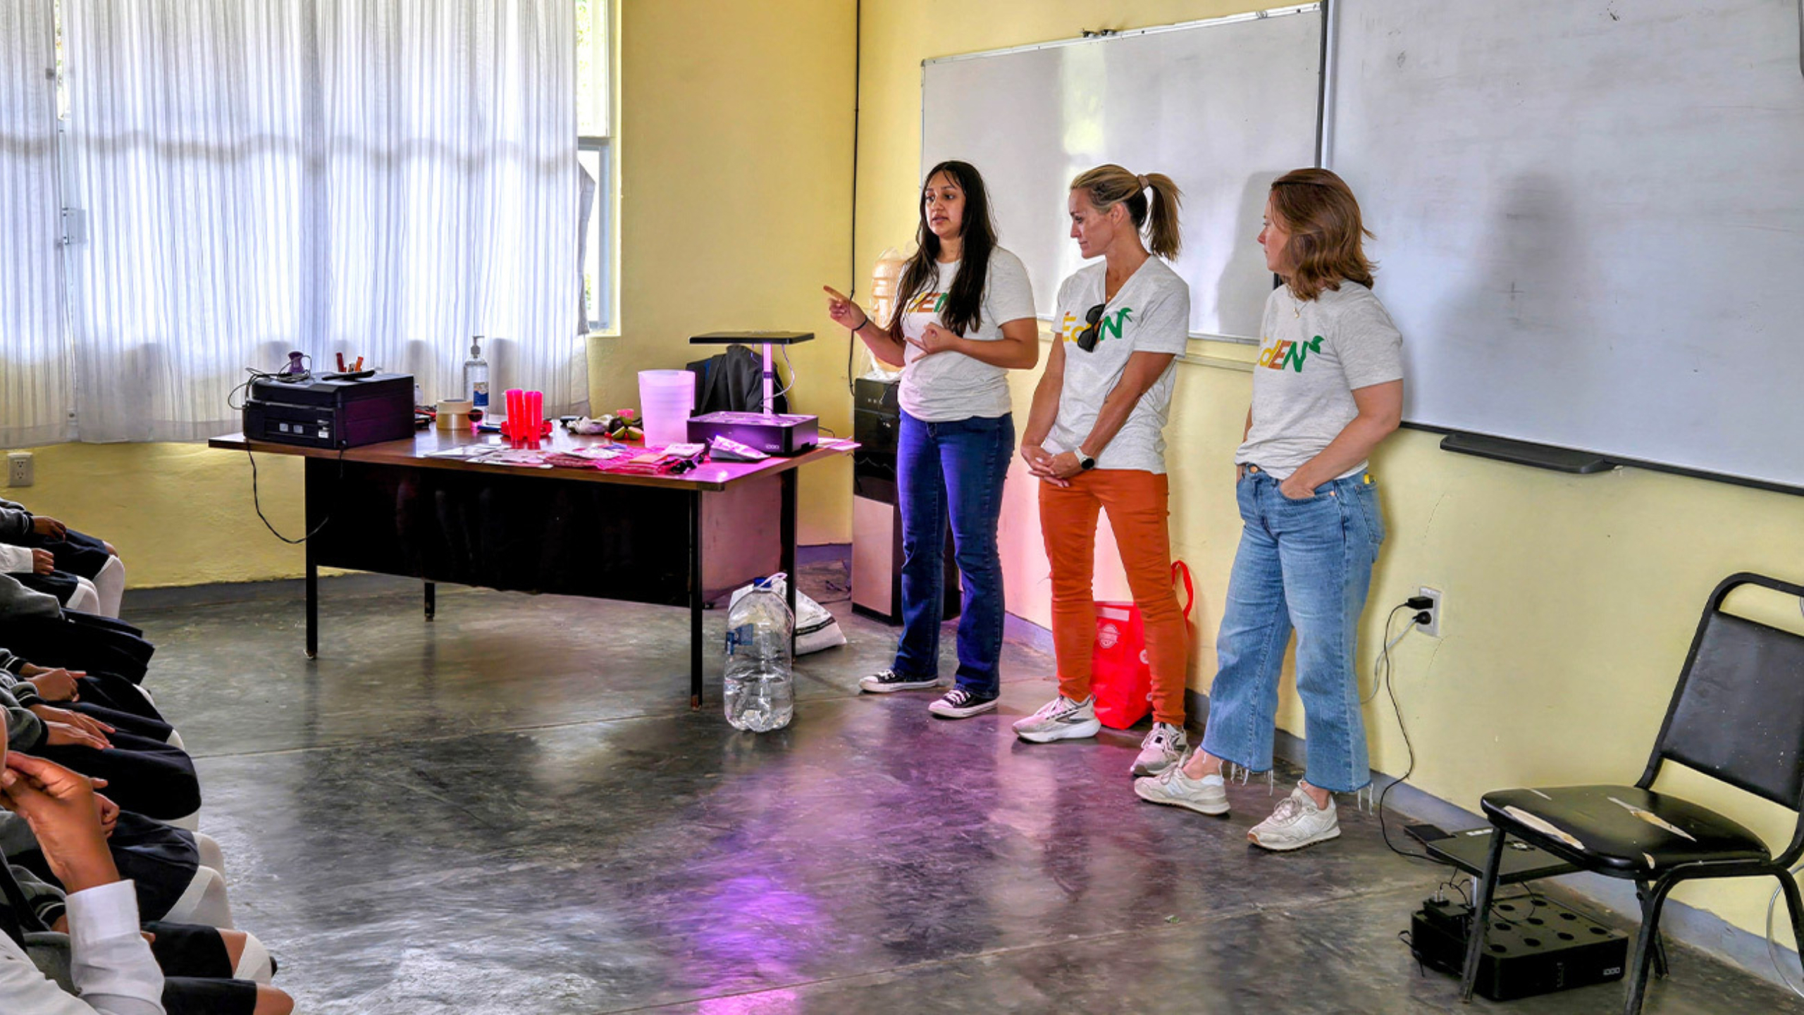
[[[1797,0],[1335,0],[1416,424],[1804,487]]]

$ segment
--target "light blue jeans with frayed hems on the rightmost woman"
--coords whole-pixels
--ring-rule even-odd
[[[1293,501],[1248,472],[1236,489],[1241,544],[1216,638],[1203,750],[1241,768],[1272,768],[1277,676],[1297,631],[1297,694],[1308,748],[1304,779],[1335,793],[1371,782],[1358,678],[1358,618],[1384,543],[1378,487],[1335,480]]]

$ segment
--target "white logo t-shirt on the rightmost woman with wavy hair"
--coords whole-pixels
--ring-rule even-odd
[[[1404,335],[1369,288],[1342,281],[1310,301],[1288,285],[1265,301],[1252,370],[1252,429],[1234,453],[1288,480],[1358,416],[1353,391],[1404,379]],[[1366,471],[1360,462],[1346,476]]]

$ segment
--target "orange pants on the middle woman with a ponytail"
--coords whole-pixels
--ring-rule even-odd
[[[1052,645],[1059,654],[1059,694],[1073,701],[1090,698],[1090,654],[1097,642],[1091,591],[1097,510],[1108,510],[1128,588],[1146,622],[1153,718],[1182,727],[1189,658],[1183,611],[1171,590],[1169,490],[1165,476],[1142,469],[1079,472],[1070,487],[1041,483],[1039,528],[1052,562]]]

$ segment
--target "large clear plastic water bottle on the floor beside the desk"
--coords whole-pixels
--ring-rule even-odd
[[[783,579],[758,579],[727,608],[727,721],[754,734],[781,730],[796,716],[790,676],[796,617]]]

